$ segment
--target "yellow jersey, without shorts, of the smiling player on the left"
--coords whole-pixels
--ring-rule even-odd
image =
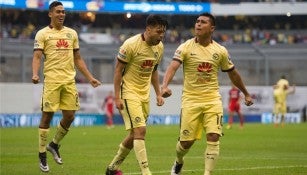
[[[79,49],[77,32],[63,27],[57,30],[47,26],[35,36],[34,50],[42,50],[44,82],[67,83],[75,81],[74,50]]]

